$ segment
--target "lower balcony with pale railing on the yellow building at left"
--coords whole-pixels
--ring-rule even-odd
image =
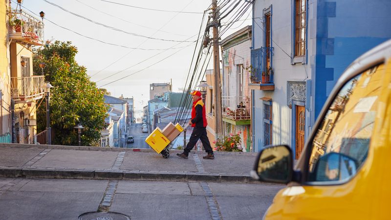
[[[15,103],[43,98],[44,76],[11,77],[11,98]]]

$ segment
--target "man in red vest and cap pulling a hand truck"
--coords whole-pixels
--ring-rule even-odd
[[[193,108],[192,119],[189,121],[189,124],[192,125],[194,129],[192,135],[190,136],[189,143],[186,145],[186,148],[183,153],[176,155],[187,159],[190,151],[194,148],[195,143],[197,143],[198,139],[201,139],[202,145],[205,148],[205,152],[208,153],[208,155],[202,158],[215,159],[211,144],[209,142],[208,136],[206,135],[206,126],[208,125],[208,123],[206,122],[205,105],[201,99],[201,92],[194,91],[190,92],[190,94],[192,94]]]

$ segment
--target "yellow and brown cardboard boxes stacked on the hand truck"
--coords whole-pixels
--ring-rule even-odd
[[[179,123],[174,125],[170,122],[163,131],[160,128],[156,128],[151,134],[145,139],[145,142],[155,150],[156,153],[160,154],[167,145],[170,144],[181,132],[183,128]]]

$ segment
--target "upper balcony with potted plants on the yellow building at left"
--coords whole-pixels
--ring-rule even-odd
[[[21,10],[11,13],[9,38],[15,42],[43,45],[43,22]]]

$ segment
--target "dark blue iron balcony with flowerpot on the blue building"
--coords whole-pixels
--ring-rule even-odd
[[[251,50],[251,89],[274,90],[272,65],[274,47],[261,47]]]

